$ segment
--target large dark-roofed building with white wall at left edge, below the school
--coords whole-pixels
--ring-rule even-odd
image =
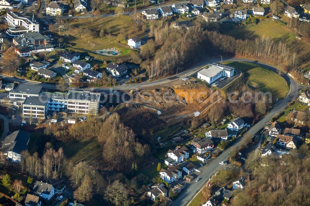
[[[21,130],[7,135],[2,142],[1,152],[12,162],[20,162],[21,152],[27,150],[30,134]]]

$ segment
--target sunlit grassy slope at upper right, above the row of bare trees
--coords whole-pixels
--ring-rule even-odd
[[[284,16],[280,20],[286,21],[286,18]],[[243,40],[270,37],[276,42],[286,43],[290,51],[298,52],[300,56],[310,53],[310,43],[296,39],[294,32],[285,26],[275,23],[271,18],[261,20],[257,25],[251,24],[240,28],[234,28],[233,26],[223,27],[221,33]]]

